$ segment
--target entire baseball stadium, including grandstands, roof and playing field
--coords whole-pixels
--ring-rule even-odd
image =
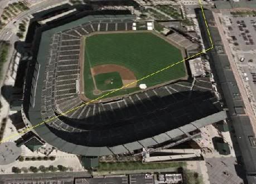
[[[226,118],[210,79],[190,80],[179,62],[186,50],[153,22],[91,12],[35,35],[40,41],[33,42],[38,49],[27,71],[23,120],[56,149],[133,154],[187,141]]]

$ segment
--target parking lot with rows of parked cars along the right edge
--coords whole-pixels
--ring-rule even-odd
[[[256,17],[225,15],[223,21],[236,67],[256,113]]]

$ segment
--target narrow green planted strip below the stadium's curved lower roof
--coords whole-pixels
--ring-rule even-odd
[[[115,163],[100,162],[97,170],[98,171],[161,170],[164,168],[183,167],[183,166],[186,166],[185,162],[163,162],[163,163],[142,163],[141,161],[115,162]]]

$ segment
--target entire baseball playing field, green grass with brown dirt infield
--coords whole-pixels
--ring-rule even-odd
[[[98,98],[127,84],[130,86],[108,95],[118,96],[186,76],[183,62],[152,74],[183,59],[180,49],[151,32],[98,33],[85,37],[84,92]]]

